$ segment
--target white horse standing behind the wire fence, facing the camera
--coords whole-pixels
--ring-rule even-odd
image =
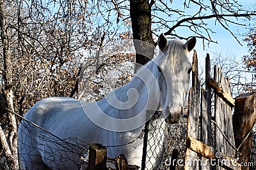
[[[178,123],[183,116],[191,71],[189,52],[195,43],[195,38],[185,44],[168,41],[161,34],[159,54],[141,67],[129,83],[101,101],[84,103],[68,97],[50,97],[36,103],[25,118],[58,138],[22,120],[18,139],[23,168],[79,169],[81,156],[86,153],[82,145],[92,143],[109,146],[108,157],[124,153],[129,164],[141,166],[143,139],[138,137],[143,131],[146,113],[162,111],[163,121],[159,122],[165,120],[169,124]],[[161,149],[152,154],[161,157]],[[159,166],[155,158],[150,162],[155,164],[154,168]],[[148,164],[146,167],[153,168]]]

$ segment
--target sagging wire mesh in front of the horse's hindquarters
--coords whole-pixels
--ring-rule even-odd
[[[22,128],[23,131],[19,129],[22,131],[19,136],[19,159],[23,168],[69,169],[68,165],[75,165],[77,169],[81,169],[84,163],[81,158],[88,157],[87,143],[76,138],[55,138],[29,122],[20,124],[25,127]]]

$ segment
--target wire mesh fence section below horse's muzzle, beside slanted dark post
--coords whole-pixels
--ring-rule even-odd
[[[177,150],[177,159],[184,160],[186,153],[187,118],[182,118],[179,124],[166,124],[164,119],[154,115],[148,126],[147,153],[145,169],[166,169],[171,166],[172,152]],[[143,167],[143,166],[142,166]],[[176,169],[184,169],[177,165]]]

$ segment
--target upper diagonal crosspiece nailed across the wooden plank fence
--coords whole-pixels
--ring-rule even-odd
[[[223,90],[223,87],[221,86],[220,83],[216,82],[214,79],[211,78],[208,81],[208,85],[214,90],[214,92],[216,92],[216,94],[219,97],[221,97],[221,99],[223,99],[223,101],[225,101],[228,104],[228,106],[234,108],[234,99],[230,95],[228,95],[228,93],[225,92],[225,90]]]

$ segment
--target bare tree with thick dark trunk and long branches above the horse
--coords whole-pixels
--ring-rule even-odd
[[[246,27],[247,25],[244,23],[256,15],[255,11],[244,8],[238,1],[228,0],[189,0],[179,3],[161,0],[130,1],[129,10],[134,38],[148,41],[154,45],[156,43],[152,42],[152,35],[157,34],[159,29],[166,30],[164,34],[171,38],[188,39],[186,34],[180,34],[180,31],[186,31],[193,36],[202,38],[204,45],[207,42],[216,43],[212,39],[212,34],[215,33],[214,29],[209,27],[209,22],[220,24],[239,43],[237,34],[230,29],[230,25]],[[150,20],[154,28],[150,26],[150,22],[145,22],[145,20]],[[147,62],[138,57],[136,59],[136,62],[140,62],[140,64],[143,64],[141,60]]]

